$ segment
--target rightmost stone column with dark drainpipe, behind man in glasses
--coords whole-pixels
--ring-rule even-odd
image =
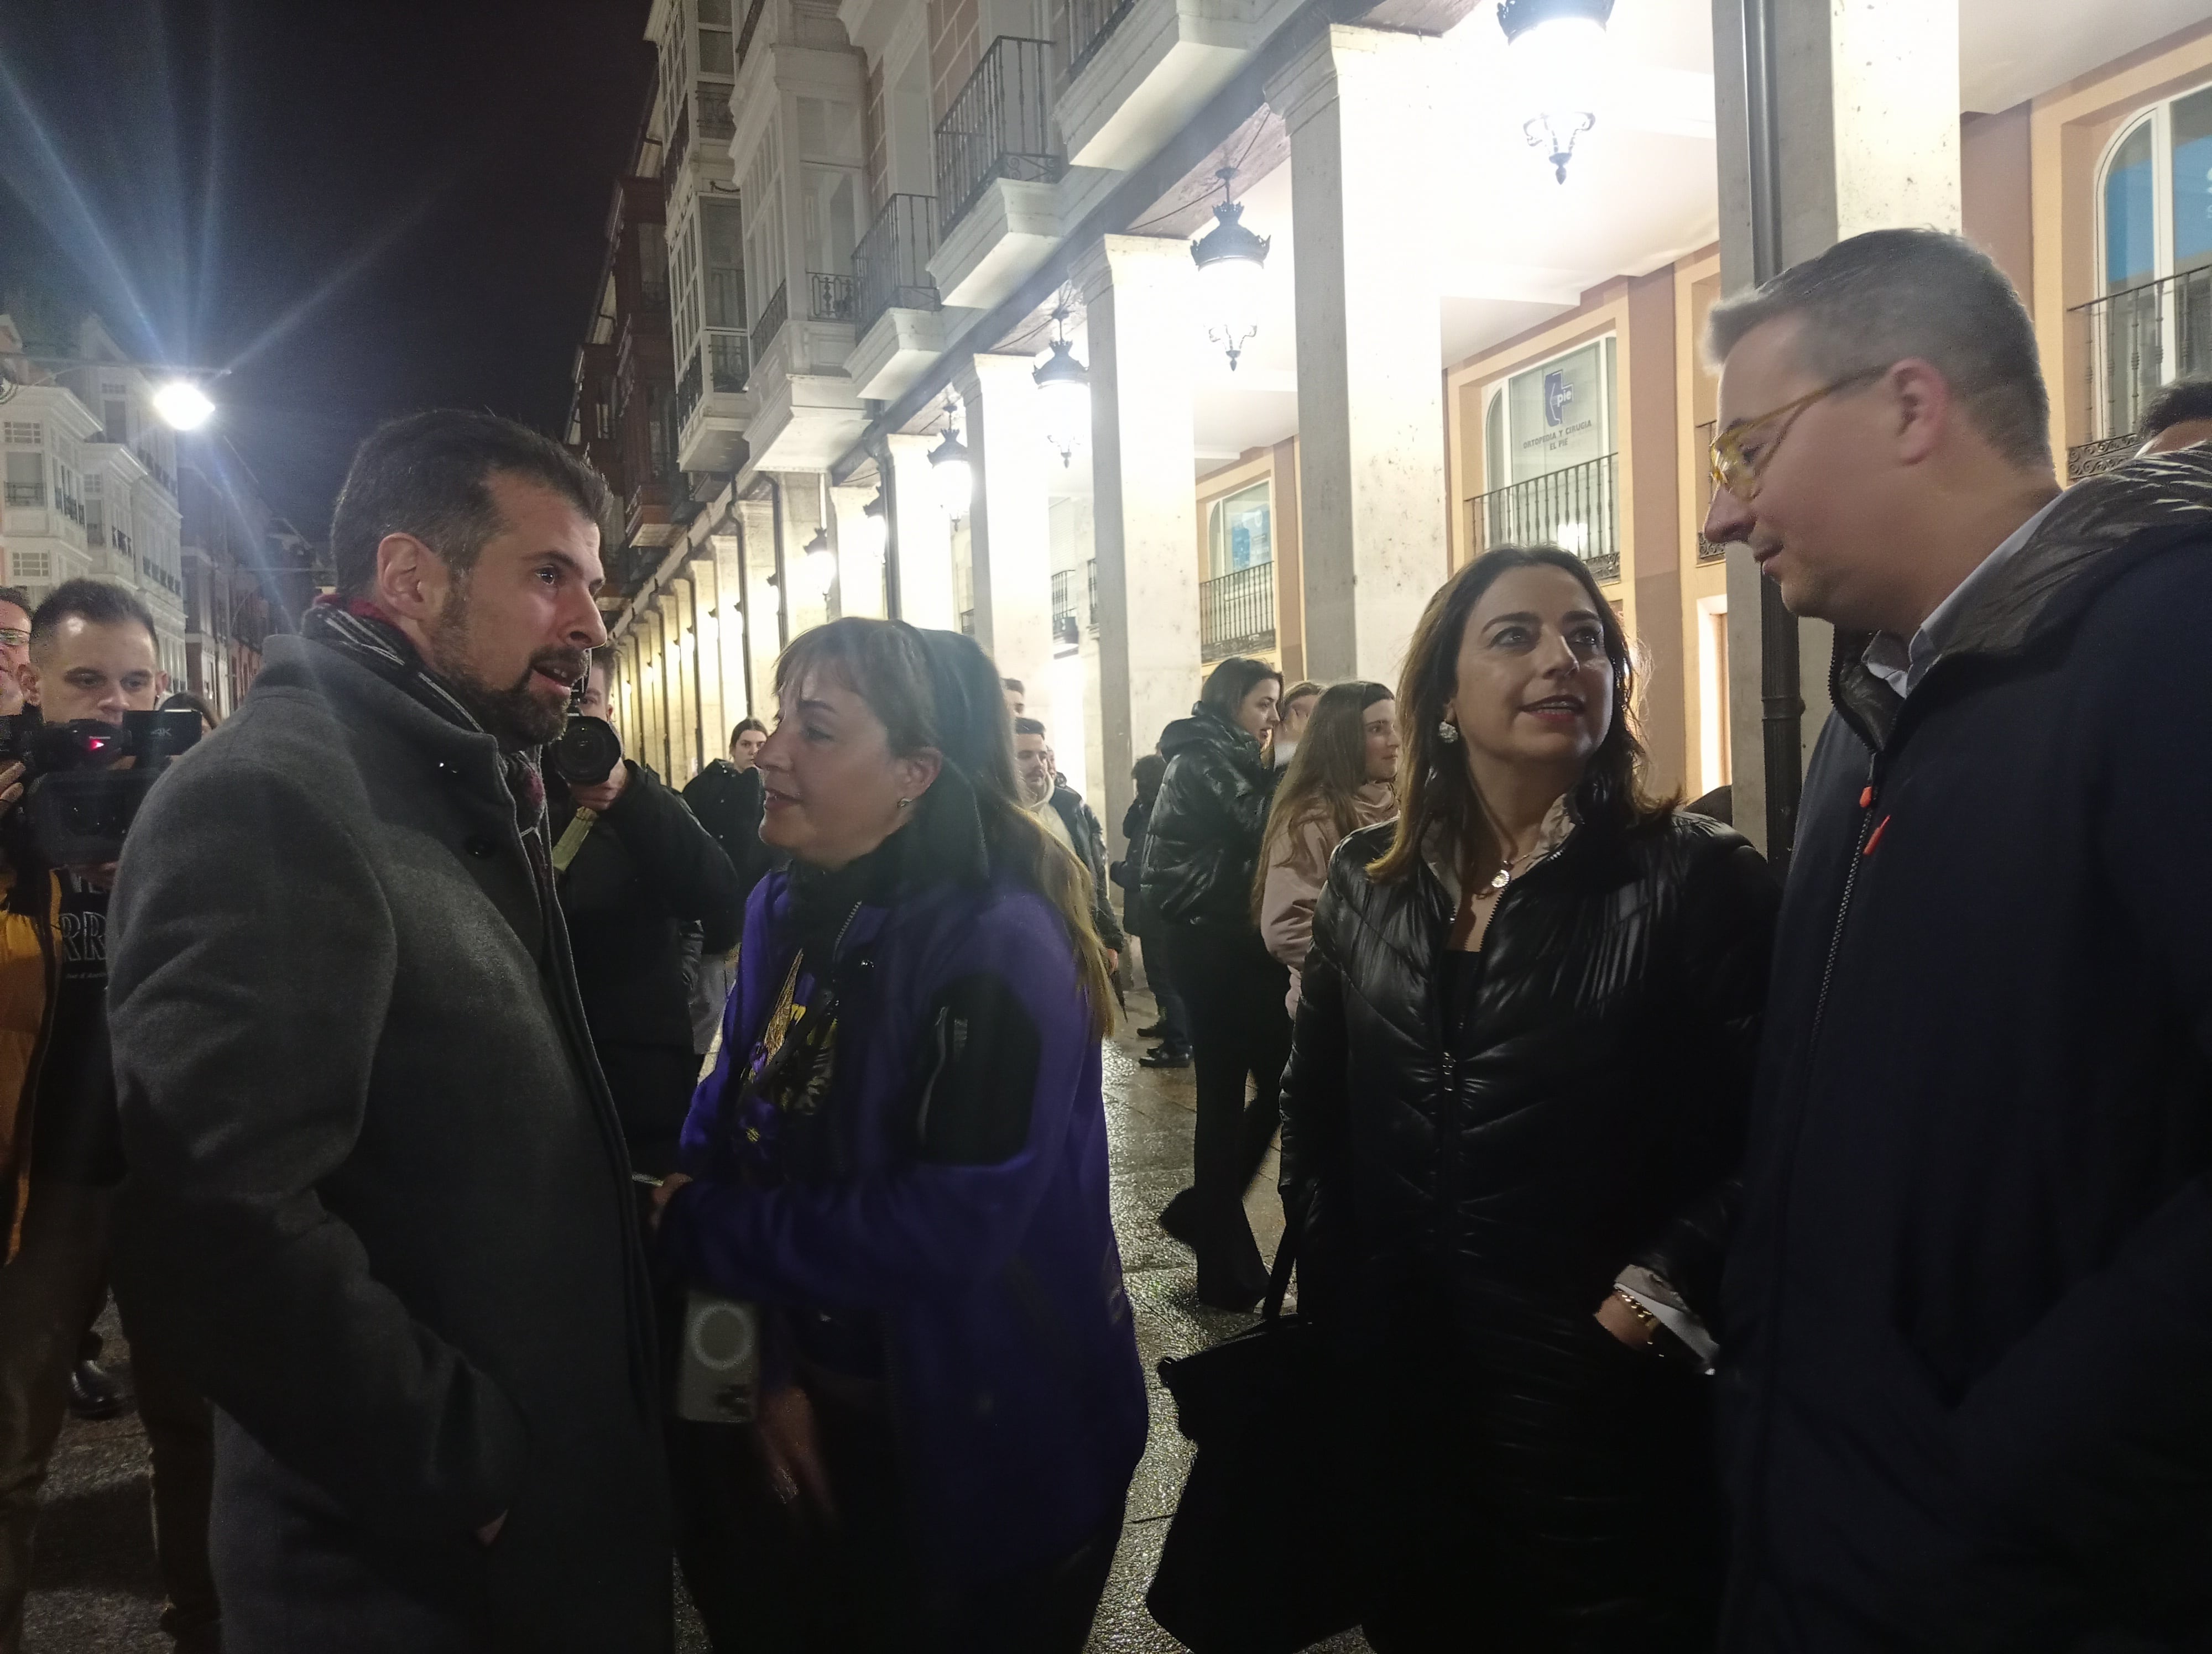
[[[1754,281],[1747,0],[1712,0],[1721,292]],[[1750,0],[1772,20],[1783,268],[1891,226],[1958,230],[1958,7],[1920,0]],[[1728,725],[1736,829],[1767,847],[1761,575],[1728,548]],[[1798,621],[1801,758],[1827,723],[1834,628]]]

